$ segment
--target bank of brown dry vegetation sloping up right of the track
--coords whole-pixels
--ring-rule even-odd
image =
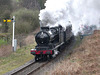
[[[100,75],[100,31],[86,37],[82,44],[48,75]]]

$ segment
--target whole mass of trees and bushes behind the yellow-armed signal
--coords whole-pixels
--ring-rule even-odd
[[[42,1],[42,3],[41,3]],[[16,16],[16,33],[29,33],[39,26],[38,9],[43,8],[45,0],[0,0],[0,32],[12,33],[12,23],[3,23],[3,19]]]

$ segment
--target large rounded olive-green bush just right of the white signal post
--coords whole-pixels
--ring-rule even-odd
[[[16,17],[16,34],[34,31],[39,26],[38,14],[38,10],[29,9],[20,9],[12,13]],[[10,25],[9,31],[12,32],[12,25]]]

